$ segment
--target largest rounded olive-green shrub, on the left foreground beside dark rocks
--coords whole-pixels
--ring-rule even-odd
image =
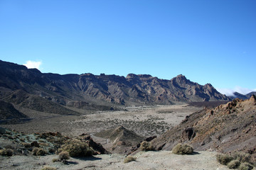
[[[70,157],[90,157],[93,154],[93,150],[80,140],[68,140],[64,145],[61,145],[58,152],[66,151]]]

